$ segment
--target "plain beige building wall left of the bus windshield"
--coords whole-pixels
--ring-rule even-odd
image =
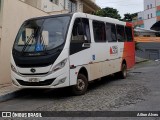
[[[0,84],[11,82],[10,53],[21,24],[26,19],[45,15],[48,14],[19,0],[4,0],[0,41]]]

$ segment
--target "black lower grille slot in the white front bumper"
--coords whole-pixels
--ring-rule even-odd
[[[47,86],[51,85],[54,82],[55,79],[45,80],[41,82],[26,82],[22,80],[17,80],[20,85],[23,86]]]

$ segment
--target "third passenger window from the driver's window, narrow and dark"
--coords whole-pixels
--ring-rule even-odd
[[[122,25],[117,25],[117,39],[118,42],[125,42],[124,26]]]

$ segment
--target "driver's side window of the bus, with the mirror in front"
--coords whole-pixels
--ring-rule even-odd
[[[83,43],[90,41],[89,20],[86,18],[77,18],[72,30],[71,42]]]

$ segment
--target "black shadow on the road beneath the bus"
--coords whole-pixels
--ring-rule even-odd
[[[100,87],[111,83],[112,81],[118,81],[120,79],[115,76],[107,76],[89,83],[88,91],[91,92]],[[59,89],[22,89],[16,93],[17,99],[63,99],[72,97],[69,87]]]

